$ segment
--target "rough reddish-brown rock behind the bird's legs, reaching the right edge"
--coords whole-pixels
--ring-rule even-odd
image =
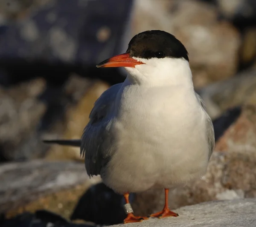
[[[241,115],[218,140],[206,175],[169,193],[170,208],[204,201],[256,197],[256,107],[244,106]],[[137,194],[134,213],[148,215],[163,208],[164,191]]]

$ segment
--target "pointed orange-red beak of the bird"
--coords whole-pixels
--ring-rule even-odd
[[[136,65],[144,64],[140,61],[137,61],[130,57],[129,53],[122,55],[116,55],[114,57],[108,58],[105,61],[102,61],[96,67],[135,67]]]

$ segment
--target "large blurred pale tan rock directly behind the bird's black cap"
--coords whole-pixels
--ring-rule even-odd
[[[239,32],[218,21],[216,6],[196,0],[137,0],[131,34],[148,29],[170,32],[186,46],[196,88],[235,74]]]

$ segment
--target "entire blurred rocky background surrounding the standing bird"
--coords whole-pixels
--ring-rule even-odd
[[[1,226],[122,222],[122,196],[87,177],[79,149],[41,141],[80,138],[126,76],[96,64],[151,29],[186,46],[216,136],[207,175],[172,191],[170,207],[256,197],[255,0],[0,0]],[[135,213],[161,210],[163,196],[131,195]]]

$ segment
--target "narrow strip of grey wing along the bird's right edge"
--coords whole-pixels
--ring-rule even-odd
[[[215,135],[214,135],[212,119],[209,117],[208,113],[206,112],[206,106],[204,104],[203,99],[196,92],[195,92],[195,94],[196,94],[198,102],[200,103],[201,107],[203,108],[203,111],[206,116],[206,133],[207,133],[208,144],[209,144],[209,159],[210,159],[210,157],[212,155],[213,148],[215,146]]]

